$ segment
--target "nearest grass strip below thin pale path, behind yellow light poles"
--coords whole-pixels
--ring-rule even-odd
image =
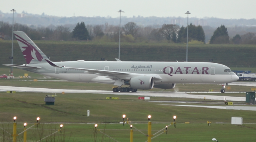
[[[158,132],[165,125],[169,123],[156,124],[152,123],[152,134]],[[10,124],[9,126],[11,126]],[[19,125],[22,124],[18,124]],[[31,126],[29,124],[28,126]],[[52,124],[53,128],[58,129],[58,124]],[[133,124],[137,129],[139,129],[144,134],[147,134],[147,124]],[[20,126],[21,127],[21,126]],[[105,127],[105,128],[104,128]],[[177,123],[176,128],[174,126],[168,127],[167,134],[161,134],[160,136],[154,138],[152,142],[209,142],[212,138],[216,138],[222,142],[246,142],[254,141],[254,130],[256,124],[243,124],[231,125],[231,124],[212,124],[208,126],[205,124],[182,124]],[[10,128],[11,129],[11,128]],[[21,132],[23,128],[18,128],[18,132]],[[35,129],[35,128],[34,128]],[[63,134],[71,141],[75,142],[92,142],[94,141],[94,124],[64,124],[63,132],[56,135],[56,137],[63,137]],[[123,126],[122,124],[99,124],[98,129],[101,132],[105,132],[118,142],[129,142],[130,141],[130,126],[127,124]],[[138,142],[144,142],[147,137],[138,132],[133,128],[133,140]],[[34,136],[32,132],[35,130],[28,130],[28,138]],[[52,130],[54,131],[54,130]],[[163,130],[164,131],[164,130]],[[162,131],[161,131],[162,132]],[[46,136],[46,135],[45,135]],[[97,141],[100,142],[102,134],[97,132]],[[106,142],[109,138],[105,138]]]

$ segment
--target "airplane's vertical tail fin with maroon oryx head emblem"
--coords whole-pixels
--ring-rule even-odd
[[[26,35],[26,33],[24,33],[23,31],[14,31],[13,33],[18,41],[18,44],[27,64],[46,62],[44,59],[48,58],[28,37],[28,35]]]

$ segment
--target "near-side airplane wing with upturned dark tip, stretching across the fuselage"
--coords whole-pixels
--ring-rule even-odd
[[[94,69],[87,69],[87,68],[69,68],[69,67],[65,67],[65,66],[58,66],[58,65],[54,64],[53,62],[51,62],[50,60],[47,60],[47,59],[45,59],[45,60],[53,67],[84,70],[85,71],[84,73],[96,74],[98,76],[116,76],[116,77],[122,78],[122,79],[130,79],[131,77],[135,77],[135,76],[144,76],[144,74],[134,74],[134,73],[130,73],[130,72],[116,72],[116,71],[110,71],[110,70],[94,70]],[[155,79],[162,79],[158,75],[154,75],[154,74],[150,74],[150,75],[153,76]]]

